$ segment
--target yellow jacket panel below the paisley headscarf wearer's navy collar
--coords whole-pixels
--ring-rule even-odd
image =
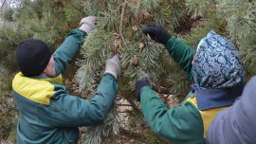
[[[188,98],[187,101],[191,101],[192,104],[197,108],[197,103],[196,103],[196,99],[195,97],[193,97],[192,99],[191,98]],[[213,118],[215,117],[215,115],[217,113],[219,113],[220,111],[224,110],[224,109],[227,109],[229,108],[229,106],[225,106],[225,107],[220,107],[220,108],[212,108],[212,109],[208,109],[208,110],[205,110],[205,111],[200,111],[198,108],[197,110],[199,111],[199,113],[201,114],[201,117],[203,119],[203,122],[204,122],[204,138],[206,138],[206,135],[207,135],[207,131],[208,131],[208,128],[210,126],[210,122],[213,120]]]

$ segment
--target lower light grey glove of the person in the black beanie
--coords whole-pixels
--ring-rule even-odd
[[[104,74],[110,74],[116,80],[118,80],[120,76],[120,63],[119,63],[119,55],[116,54],[113,57],[110,56],[106,61],[106,70]]]

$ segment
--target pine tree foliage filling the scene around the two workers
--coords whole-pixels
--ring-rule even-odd
[[[41,39],[53,52],[88,15],[97,16],[97,28],[85,38],[76,63],[68,66],[65,85],[71,94],[90,99],[111,53],[119,53],[122,74],[113,108],[100,125],[81,128],[82,143],[169,143],[144,120],[134,98],[135,82],[150,81],[157,95],[173,107],[190,91],[192,81],[163,45],[141,33],[149,22],[163,25],[193,48],[213,29],[240,48],[246,80],[256,74],[254,0],[2,0],[0,4],[0,139],[15,132],[17,112],[10,90],[18,72],[15,52],[19,42]],[[15,134],[11,135],[15,141]]]

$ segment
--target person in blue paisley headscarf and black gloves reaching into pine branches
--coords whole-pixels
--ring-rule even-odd
[[[196,51],[161,25],[150,23],[142,32],[165,45],[193,81],[192,91],[171,109],[155,95],[148,81],[136,82],[135,96],[149,126],[174,144],[206,143],[211,120],[242,94],[245,66],[238,48],[213,30],[200,41]]]

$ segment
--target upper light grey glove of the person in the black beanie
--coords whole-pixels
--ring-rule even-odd
[[[96,17],[95,16],[87,16],[82,18],[80,21],[80,29],[82,29],[84,32],[89,34],[93,28],[95,28],[95,21]]]

